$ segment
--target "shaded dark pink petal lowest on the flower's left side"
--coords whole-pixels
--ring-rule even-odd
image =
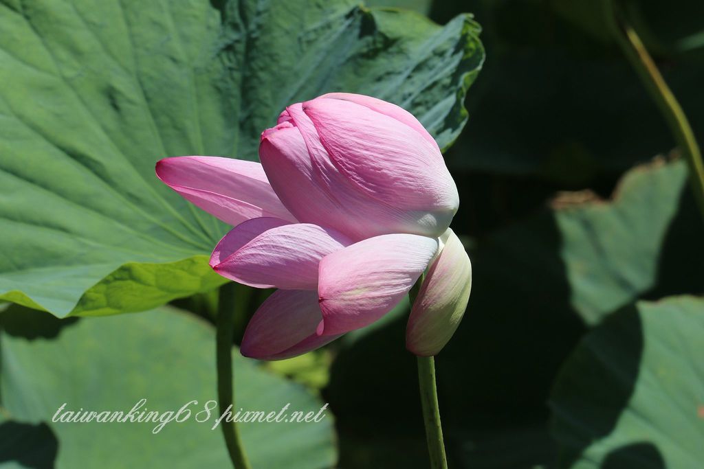
[[[322,347],[339,335],[318,336],[315,328],[321,319],[317,293],[277,290],[249,321],[240,352],[251,358],[280,360]]]

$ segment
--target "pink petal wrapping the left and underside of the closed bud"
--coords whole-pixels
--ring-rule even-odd
[[[292,120],[282,120],[291,116],[297,127],[289,127]],[[354,240],[436,230],[434,217],[379,203],[340,174],[329,161],[300,103],[289,106],[282,117],[281,124],[263,133],[259,158],[280,200],[299,221],[330,226]],[[307,141],[301,129],[305,129]]]

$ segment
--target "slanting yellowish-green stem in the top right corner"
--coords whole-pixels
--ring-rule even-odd
[[[704,217],[704,162],[697,144],[694,132],[684,111],[667,86],[667,82],[660,74],[658,66],[650,57],[648,49],[641,41],[636,30],[629,25],[627,15],[622,9],[619,0],[607,0],[607,19],[612,33],[621,46],[633,68],[646,86],[650,97],[660,108],[660,113],[665,117],[670,131],[677,142],[680,151],[689,165],[689,178],[694,190],[694,196]]]

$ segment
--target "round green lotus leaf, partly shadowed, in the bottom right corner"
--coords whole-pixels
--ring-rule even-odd
[[[704,300],[638,302],[587,335],[551,397],[558,467],[697,468],[704,460]]]

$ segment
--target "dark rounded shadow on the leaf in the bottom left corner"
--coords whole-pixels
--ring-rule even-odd
[[[46,423],[0,423],[0,465],[16,463],[23,468],[52,469],[57,452],[58,439]]]

